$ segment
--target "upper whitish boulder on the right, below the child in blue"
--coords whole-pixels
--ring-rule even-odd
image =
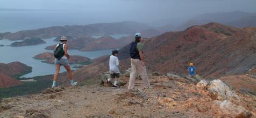
[[[212,99],[216,100],[238,100],[240,101],[240,98],[238,95],[233,92],[229,86],[226,86],[221,80],[215,79],[210,82],[210,85],[207,89],[210,93],[210,97]]]

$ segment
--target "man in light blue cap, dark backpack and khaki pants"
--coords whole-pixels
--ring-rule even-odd
[[[131,56],[131,73],[128,90],[132,90],[134,87],[134,81],[136,78],[136,73],[140,74],[144,85],[147,89],[151,89],[150,83],[147,77],[146,63],[143,55],[143,44],[140,42],[141,34],[135,34],[135,40],[131,42],[130,45],[130,56]]]

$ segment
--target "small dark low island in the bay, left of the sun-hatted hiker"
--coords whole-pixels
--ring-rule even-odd
[[[44,40],[38,38],[26,39],[22,42],[13,42],[10,46],[12,47],[20,47],[20,46],[34,46],[46,43]]]

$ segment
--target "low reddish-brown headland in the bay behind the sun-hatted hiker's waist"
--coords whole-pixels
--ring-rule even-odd
[[[44,60],[42,62],[54,64],[55,57],[53,56],[53,53],[51,52],[45,52],[38,55],[35,55],[33,58],[38,60]],[[70,55],[70,60],[68,61],[69,64],[84,64],[84,63],[91,63],[90,58],[83,57],[83,56],[77,56],[77,55]]]

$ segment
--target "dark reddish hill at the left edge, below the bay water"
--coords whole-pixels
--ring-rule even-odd
[[[20,62],[8,64],[0,63],[0,88],[22,84],[22,82],[15,79],[15,77],[22,76],[31,71],[31,67]]]

